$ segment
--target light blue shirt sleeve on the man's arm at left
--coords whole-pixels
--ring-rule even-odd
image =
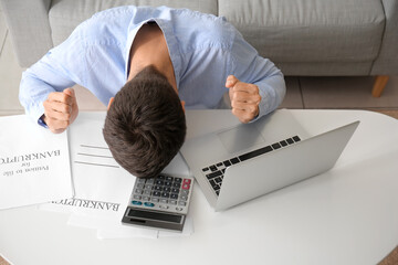
[[[59,46],[50,50],[39,62],[22,73],[19,99],[25,113],[35,121],[44,114],[43,102],[52,92],[62,92],[82,84],[83,44],[78,28]]]

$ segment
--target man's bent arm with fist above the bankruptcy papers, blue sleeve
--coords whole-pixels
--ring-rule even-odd
[[[78,113],[74,91],[69,88],[82,84],[84,72],[77,33],[22,74],[19,97],[25,113],[35,121],[41,118],[53,132],[66,129]]]

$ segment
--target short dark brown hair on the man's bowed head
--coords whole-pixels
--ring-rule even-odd
[[[159,174],[181,148],[186,131],[180,99],[154,66],[115,95],[103,129],[115,160],[138,178]]]

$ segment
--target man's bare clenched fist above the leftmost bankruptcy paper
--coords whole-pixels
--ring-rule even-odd
[[[43,106],[44,123],[54,134],[64,131],[67,126],[76,119],[78,114],[76,96],[73,88],[50,93]]]

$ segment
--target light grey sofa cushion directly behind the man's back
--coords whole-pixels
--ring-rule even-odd
[[[217,0],[53,0],[49,20],[54,45],[60,44],[94,13],[119,6],[168,6],[217,15]]]

